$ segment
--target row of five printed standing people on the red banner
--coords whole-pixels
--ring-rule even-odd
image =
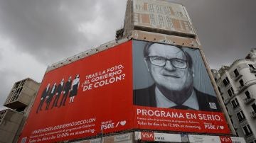
[[[68,81],[65,82],[65,80],[62,79],[60,81],[60,84],[54,83],[53,86],[50,88],[50,83],[46,86],[46,88],[43,90],[43,93],[41,94],[41,101],[38,105],[38,108],[36,110],[36,113],[39,112],[39,110],[42,110],[43,108],[43,103],[46,103],[46,110],[49,109],[51,101],[53,101],[53,104],[51,105],[51,108],[54,107],[60,107],[64,106],[65,102],[68,98],[68,94],[70,97],[70,102],[74,102],[75,96],[78,94],[78,88],[80,84],[80,76],[77,74],[75,76],[75,79],[72,81],[72,76],[69,76]],[[63,97],[61,98],[61,101],[58,105],[58,101],[60,99],[61,94],[63,94]]]

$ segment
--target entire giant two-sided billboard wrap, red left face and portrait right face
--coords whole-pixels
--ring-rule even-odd
[[[48,71],[19,142],[134,129],[230,132],[198,50],[129,40]]]

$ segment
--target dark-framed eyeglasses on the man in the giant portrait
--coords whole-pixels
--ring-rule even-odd
[[[148,59],[151,62],[151,64],[154,64],[160,67],[164,67],[166,65],[166,61],[170,61],[174,67],[179,69],[185,69],[187,67],[187,62],[184,59],[178,59],[178,58],[166,59],[164,57],[157,57],[157,56],[149,56],[146,59]]]

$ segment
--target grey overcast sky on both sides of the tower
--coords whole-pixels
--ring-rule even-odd
[[[181,0],[210,68],[244,58],[256,41],[255,0]],[[41,82],[48,65],[114,40],[126,0],[1,0],[0,110],[15,81]]]

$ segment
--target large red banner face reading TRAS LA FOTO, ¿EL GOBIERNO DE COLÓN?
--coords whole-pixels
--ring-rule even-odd
[[[19,142],[132,129],[132,41],[45,74]]]

